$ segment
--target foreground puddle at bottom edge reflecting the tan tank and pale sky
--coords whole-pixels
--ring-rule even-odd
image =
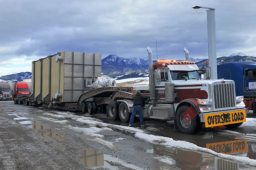
[[[110,155],[106,155],[95,149],[86,149],[80,151],[79,159],[81,163],[84,165],[84,167],[87,168],[102,167],[107,170],[143,170],[140,167],[137,167],[133,164],[127,164],[120,159],[117,159]]]

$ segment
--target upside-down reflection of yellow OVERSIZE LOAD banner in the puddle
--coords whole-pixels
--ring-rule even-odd
[[[247,141],[236,140],[206,144],[206,148],[217,153],[237,153],[247,151]]]

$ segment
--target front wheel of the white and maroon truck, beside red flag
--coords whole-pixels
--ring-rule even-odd
[[[180,131],[187,134],[195,134],[199,132],[202,128],[202,123],[200,122],[199,116],[196,116],[194,119],[187,122],[181,114],[188,110],[189,106],[181,106],[176,114],[176,122]]]

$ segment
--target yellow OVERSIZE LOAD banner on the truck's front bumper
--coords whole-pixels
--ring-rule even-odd
[[[233,123],[246,122],[245,109],[240,111],[229,111],[204,115],[205,127],[229,125]]]

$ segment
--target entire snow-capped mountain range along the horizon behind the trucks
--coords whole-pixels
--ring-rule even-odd
[[[246,56],[245,54],[231,54],[228,57],[218,57],[217,65],[222,62],[239,62],[239,61],[256,62],[256,57]],[[193,59],[189,61],[195,62],[198,67],[206,67],[206,59]],[[102,59],[102,75],[107,75],[113,79],[126,79],[133,77],[148,77],[148,59],[140,59],[136,57],[123,58],[116,54],[110,54]],[[31,79],[30,72],[21,72],[0,77],[0,82],[21,82],[24,79]]]

